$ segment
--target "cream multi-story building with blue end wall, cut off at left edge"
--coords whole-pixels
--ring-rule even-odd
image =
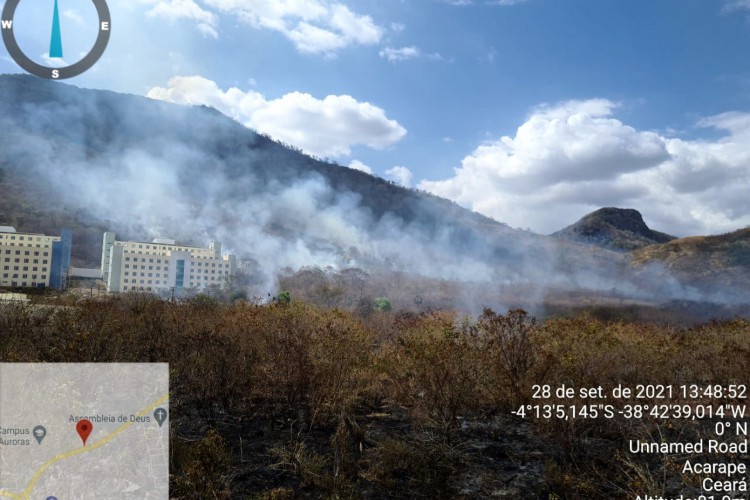
[[[45,236],[0,226],[0,286],[64,288],[72,242],[69,229]]]

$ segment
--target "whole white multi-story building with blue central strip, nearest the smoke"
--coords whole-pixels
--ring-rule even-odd
[[[102,278],[110,292],[203,289],[224,284],[236,267],[218,242],[199,248],[165,239],[117,241],[115,233],[104,233]]]

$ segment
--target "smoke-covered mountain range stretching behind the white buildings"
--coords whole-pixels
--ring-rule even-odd
[[[72,228],[81,266],[98,265],[105,229],[218,239],[269,282],[285,267],[331,265],[668,299],[723,280],[715,268],[748,270],[747,234],[688,250],[637,211],[605,208],[537,235],[311,158],[207,107],[21,75],[0,76],[0,225]]]

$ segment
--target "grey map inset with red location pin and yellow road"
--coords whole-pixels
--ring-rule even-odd
[[[167,363],[0,363],[0,500],[169,498]]]

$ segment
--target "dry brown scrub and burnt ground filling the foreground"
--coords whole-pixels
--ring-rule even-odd
[[[510,412],[533,384],[747,383],[750,323],[123,295],[0,305],[0,361],[169,362],[177,498],[634,498],[687,490],[627,439],[700,422]]]

